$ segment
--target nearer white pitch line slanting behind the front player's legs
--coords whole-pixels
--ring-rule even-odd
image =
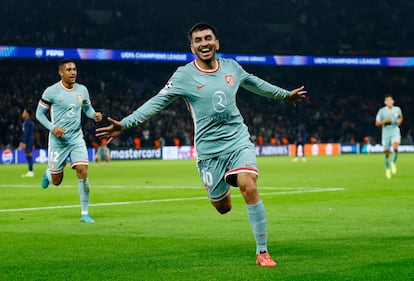
[[[345,190],[345,188],[314,188],[314,189],[307,189],[307,190],[264,192],[261,194],[261,196],[263,197],[263,196],[269,196],[269,195],[335,192],[335,191],[343,191],[343,190]],[[241,197],[241,196],[242,196],[241,194],[232,195],[232,197]],[[191,201],[191,200],[206,200],[206,199],[207,199],[207,196],[190,197],[190,198],[168,198],[168,199],[154,199],[154,200],[141,200],[141,201],[95,203],[95,204],[90,204],[90,206],[103,207],[103,206],[133,205],[133,204],[146,204],[146,203],[166,203],[166,202]],[[47,207],[18,208],[18,209],[0,209],[0,213],[40,211],[40,210],[53,210],[53,209],[69,209],[69,208],[79,208],[79,206],[80,205],[65,205],[65,206],[47,206]]]

